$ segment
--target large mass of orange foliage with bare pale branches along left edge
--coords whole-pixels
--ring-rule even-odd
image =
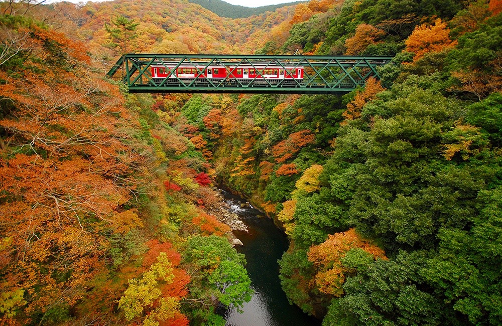
[[[132,136],[137,117],[89,69],[81,44],[37,26],[1,33],[14,36],[23,63],[0,65],[9,108],[0,117],[0,292],[24,291],[16,308],[27,324],[35,311],[105,292],[110,237],[143,226],[131,207],[150,182],[152,148]],[[103,301],[112,305],[116,289]]]

